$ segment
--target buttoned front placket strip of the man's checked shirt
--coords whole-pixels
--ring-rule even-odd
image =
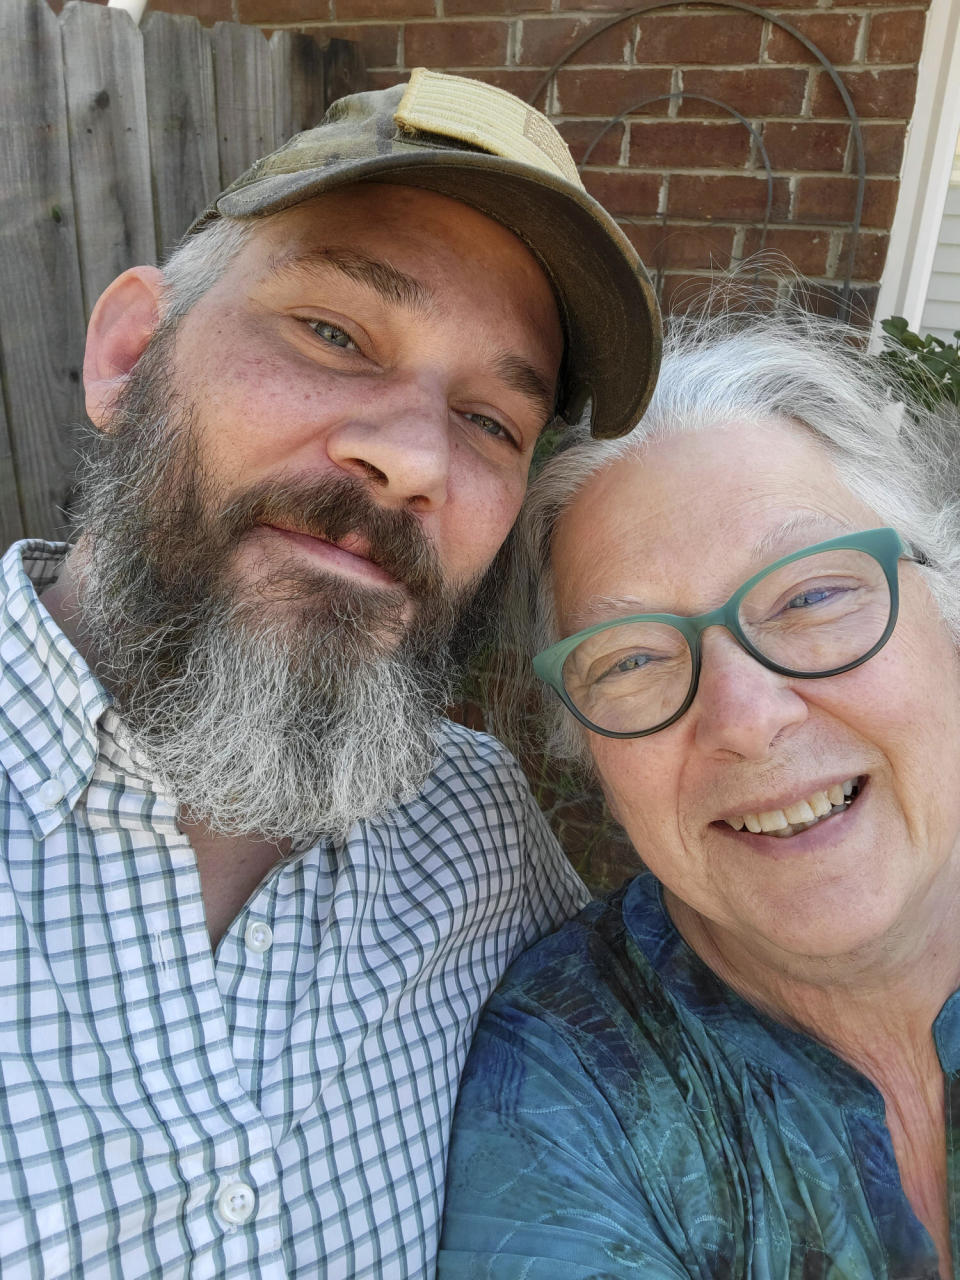
[[[115,781],[95,778],[87,799],[129,1052],[179,1172],[191,1280],[285,1280],[279,1167],[233,1060],[193,850],[133,780],[119,804]]]

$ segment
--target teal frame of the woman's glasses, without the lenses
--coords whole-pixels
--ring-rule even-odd
[[[842,667],[832,667],[829,671],[792,671],[790,667],[781,667],[750,644],[750,640],[744,634],[744,628],[740,626],[740,618],[737,616],[740,602],[748,591],[753,590],[753,588],[769,573],[783,568],[786,564],[792,564],[795,561],[805,559],[808,556],[817,556],[820,552],[832,550],[865,552],[868,556],[872,556],[883,570],[887,579],[887,588],[890,589],[890,618],[883,628],[883,634],[879,640],[877,640],[877,643],[867,650],[865,654],[860,658],[855,658],[852,662],[845,663]],[[759,573],[754,573],[754,576],[748,579],[742,586],[737,588],[727,603],[722,604],[718,609],[710,609],[709,613],[698,613],[694,617],[685,617],[678,613],[632,613],[625,618],[612,618],[609,622],[596,622],[594,626],[585,627],[582,631],[577,631],[575,635],[567,636],[566,640],[558,640],[557,644],[552,644],[548,649],[538,653],[534,658],[534,671],[540,680],[549,685],[550,689],[558,695],[567,710],[571,712],[571,714],[575,716],[581,724],[593,730],[594,733],[602,733],[604,737],[648,737],[650,733],[658,733],[662,728],[667,728],[669,724],[678,721],[680,717],[690,709],[690,704],[694,698],[696,698],[696,689],[700,684],[701,664],[700,639],[708,627],[726,627],[741,649],[745,649],[746,653],[749,653],[751,658],[755,658],[763,667],[767,667],[769,671],[776,671],[781,676],[791,676],[795,680],[824,680],[827,676],[840,676],[845,671],[852,671],[854,667],[861,666],[883,648],[893,634],[893,627],[897,623],[897,612],[900,609],[900,580],[897,576],[897,563],[901,559],[910,559],[918,564],[927,563],[924,557],[914,556],[906,549],[900,534],[897,534],[895,529],[868,529],[865,532],[860,534],[845,534],[842,538],[829,538],[826,543],[815,543],[813,547],[804,547],[803,550],[794,552],[792,556],[785,556],[782,559],[774,561],[773,564],[768,564],[767,568],[762,568]],[[652,728],[632,731],[603,728],[599,724],[594,724],[591,719],[588,719],[588,717],[577,709],[570,694],[563,687],[563,663],[567,660],[573,649],[581,644],[581,641],[588,640],[590,636],[599,635],[600,631],[609,631],[611,627],[620,627],[628,622],[663,622],[680,631],[690,648],[690,689],[687,690],[687,695],[681,707],[671,717],[668,717],[668,719],[660,721],[659,724],[654,724]]]

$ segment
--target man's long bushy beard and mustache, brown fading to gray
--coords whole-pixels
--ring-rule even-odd
[[[132,745],[191,820],[278,842],[343,838],[412,799],[433,768],[448,640],[471,591],[444,588],[408,511],[343,472],[218,495],[193,415],[168,390],[170,338],[155,337],[84,468],[83,636]],[[262,524],[328,541],[353,532],[402,588],[302,556],[243,579],[232,564]]]

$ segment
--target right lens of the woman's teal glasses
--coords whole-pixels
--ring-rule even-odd
[[[867,552],[818,552],[760,579],[740,603],[740,626],[758,653],[815,675],[856,662],[890,621],[887,579]]]

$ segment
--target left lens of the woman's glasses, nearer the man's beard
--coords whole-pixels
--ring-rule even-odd
[[[676,627],[621,622],[581,640],[563,663],[563,687],[591,724],[640,733],[668,721],[690,690],[692,660]]]

